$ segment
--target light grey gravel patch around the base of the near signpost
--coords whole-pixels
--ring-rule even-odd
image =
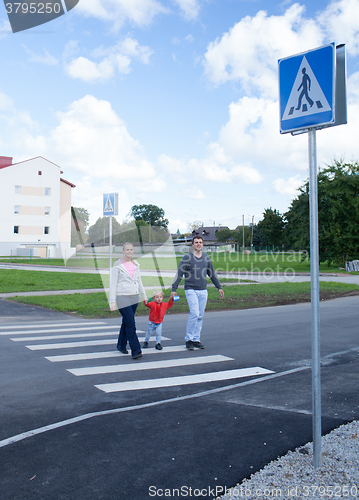
[[[290,451],[252,474],[221,500],[359,498],[359,422],[341,425],[322,438],[322,466],[313,466],[313,444]]]

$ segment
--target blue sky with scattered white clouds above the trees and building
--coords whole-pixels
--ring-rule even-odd
[[[280,134],[278,60],[346,45],[348,123],[319,167],[359,159],[359,0],[80,0],[12,33],[0,5],[0,156],[43,156],[103,215],[103,194],[163,208],[171,232],[285,213],[308,135]]]

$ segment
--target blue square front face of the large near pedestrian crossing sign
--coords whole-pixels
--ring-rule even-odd
[[[280,59],[280,132],[335,122],[336,49],[331,43]]]

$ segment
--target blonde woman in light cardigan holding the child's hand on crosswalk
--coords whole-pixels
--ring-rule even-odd
[[[123,258],[117,260],[111,270],[110,309],[111,311],[118,309],[122,316],[117,349],[123,354],[128,354],[126,349],[128,341],[133,359],[142,356],[135,323],[139,294],[147,304],[148,299],[140,276],[140,265],[133,259],[133,245],[125,243]]]

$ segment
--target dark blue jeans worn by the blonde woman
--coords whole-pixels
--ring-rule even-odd
[[[122,316],[122,323],[120,333],[117,341],[117,349],[124,351],[126,349],[127,341],[130,344],[132,356],[140,354],[141,346],[136,333],[135,312],[138,306],[137,302],[134,303],[133,297],[119,296],[117,297],[117,307]]]

